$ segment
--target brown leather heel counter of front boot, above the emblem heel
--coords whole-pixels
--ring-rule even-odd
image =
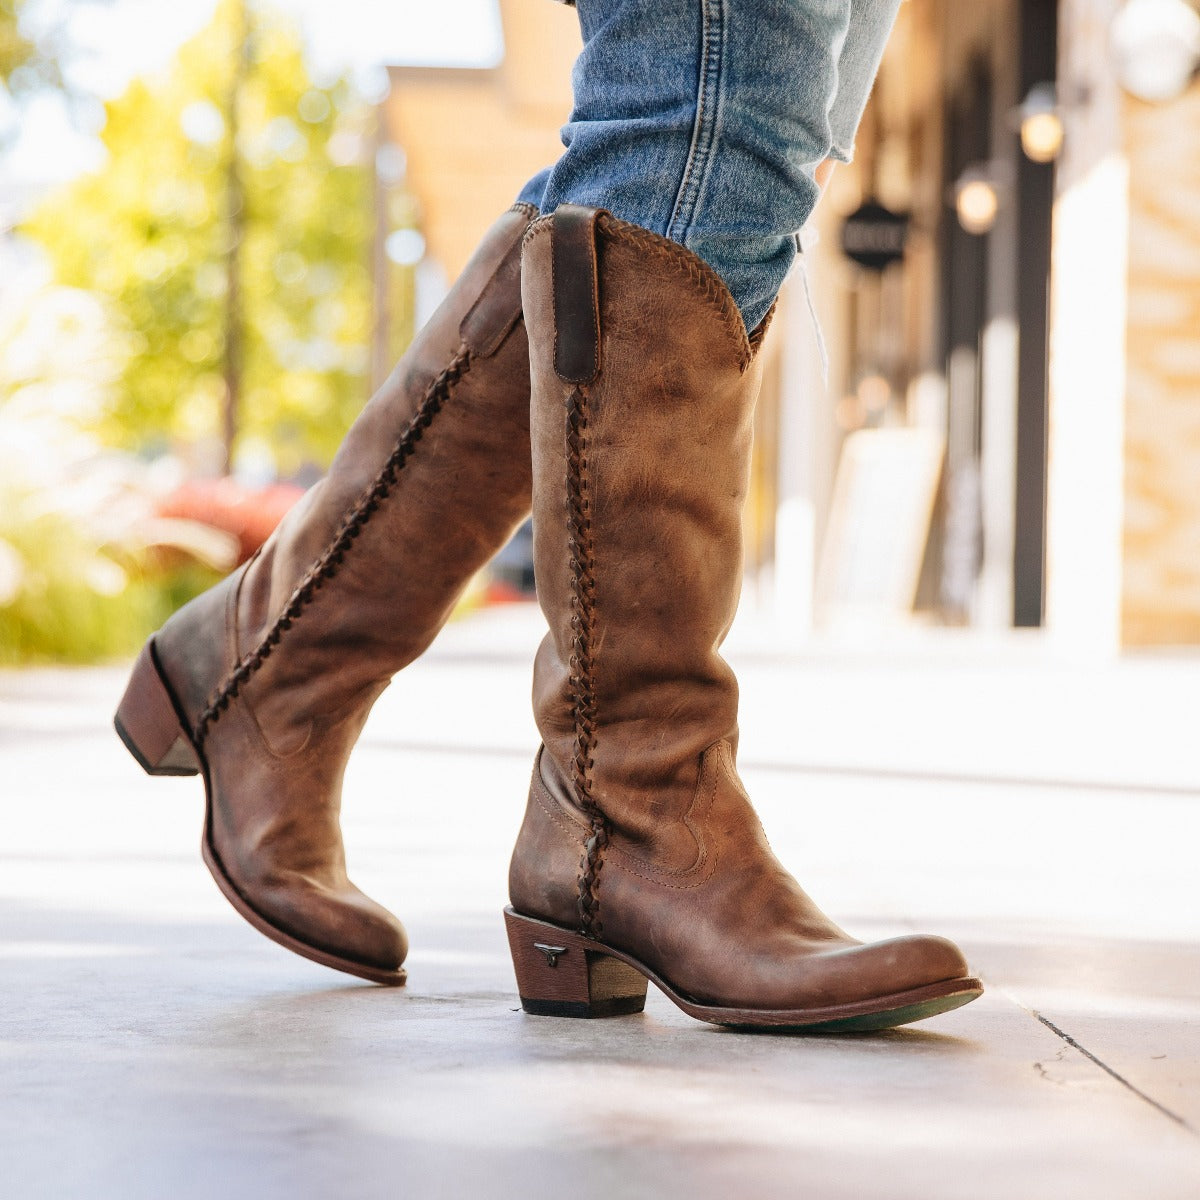
[[[509,900],[517,912],[574,928],[578,924],[580,860],[588,829],[546,786],[538,751],[529,799],[509,864]]]

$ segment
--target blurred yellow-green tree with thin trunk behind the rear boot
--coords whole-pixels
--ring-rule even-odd
[[[125,329],[109,444],[221,438],[228,466],[253,438],[282,474],[332,456],[367,372],[368,122],[347,79],[313,82],[287,19],[244,0],[107,106],[106,164],[24,232]]]

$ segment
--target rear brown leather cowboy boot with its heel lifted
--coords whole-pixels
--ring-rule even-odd
[[[342,774],[391,676],[529,511],[534,215],[518,205],[491,228],[329,475],[150,638],[116,713],[150,774],[204,774],[204,860],[238,912],[377,983],[404,982],[407,938],[347,878]]]

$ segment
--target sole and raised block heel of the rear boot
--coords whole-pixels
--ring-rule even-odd
[[[209,784],[208,763],[204,755],[192,744],[187,722],[180,715],[182,712],[170,684],[158,665],[154,638],[142,648],[134,664],[125,696],[118,706],[113,725],[125,748],[137,760],[148,775],[202,775],[204,778],[204,833],[200,839],[200,857],[209,874],[216,881],[221,894],[250,925],[253,925],[264,937],[299,954],[323,967],[342,971],[359,979],[383,984],[388,988],[400,988],[408,979],[403,967],[386,971],[353,959],[343,959],[336,954],[318,949],[307,942],[301,942],[277,925],[271,924],[238,890],[233,880],[226,874],[221,859],[212,848],[212,791]]]

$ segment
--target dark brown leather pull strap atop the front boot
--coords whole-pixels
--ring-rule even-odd
[[[592,383],[600,373],[596,218],[602,211],[578,204],[554,211],[554,372],[563,383]]]

